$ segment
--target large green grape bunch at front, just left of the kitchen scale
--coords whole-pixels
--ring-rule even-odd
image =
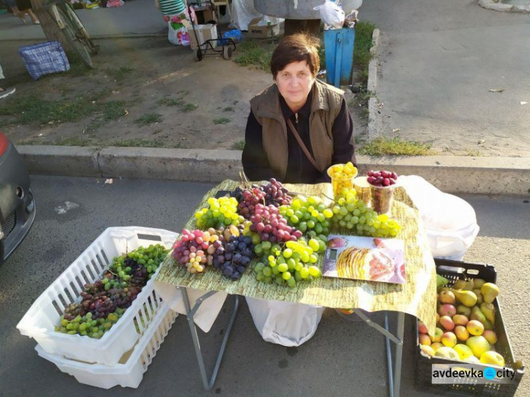
[[[325,244],[322,246],[317,239],[288,241],[283,249],[267,257],[267,263],[259,262],[254,266],[256,280],[293,288],[297,282],[319,278],[322,273],[317,262],[319,252],[324,249]]]

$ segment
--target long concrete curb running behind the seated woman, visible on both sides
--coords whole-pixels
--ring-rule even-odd
[[[220,182],[239,179],[240,150],[18,146],[30,174]],[[358,156],[359,173],[391,169],[442,191],[530,196],[529,158]]]

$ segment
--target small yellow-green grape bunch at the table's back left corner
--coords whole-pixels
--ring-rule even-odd
[[[197,227],[206,230],[209,227],[217,229],[221,226],[240,225],[245,218],[237,213],[237,204],[235,197],[208,198],[208,208],[195,213]]]

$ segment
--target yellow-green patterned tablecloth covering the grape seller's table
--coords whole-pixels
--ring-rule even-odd
[[[233,190],[239,185],[238,182],[231,180],[221,182],[208,191],[198,209],[206,206],[208,198],[215,196],[217,191]],[[285,184],[285,187],[289,191],[296,191],[300,194],[325,194],[329,197],[333,195],[331,184]],[[402,226],[397,238],[405,242],[407,281],[403,285],[324,277],[311,283],[297,283],[295,288],[289,288],[276,283],[266,284],[257,281],[252,271],[252,265],[256,259],[252,261],[239,280],[230,280],[213,268],[208,268],[202,274],[188,273],[185,268],[176,265],[171,255],[168,255],[163,262],[156,280],[175,285],[175,287],[225,291],[229,294],[266,300],[299,302],[334,308],[355,307],[368,312],[379,310],[404,312],[418,317],[430,331],[434,331],[436,321],[435,263],[430,254],[425,232],[418,227],[420,222],[418,211],[401,187],[396,188],[394,192],[391,215]],[[193,214],[184,227],[195,228]]]

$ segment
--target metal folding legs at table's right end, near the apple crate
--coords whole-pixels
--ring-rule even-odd
[[[384,328],[379,324],[370,320],[361,310],[355,310],[355,314],[360,316],[366,324],[372,328],[377,329],[384,335],[385,345],[387,348],[387,365],[388,365],[388,379],[389,379],[389,396],[399,397],[399,389],[401,387],[401,359],[403,357],[403,334],[405,328],[405,314],[398,312],[397,314],[397,335],[394,336],[389,331],[388,312],[384,314]],[[392,362],[392,352],[390,342],[396,343],[396,357],[394,363]],[[392,365],[394,364],[394,365]]]

